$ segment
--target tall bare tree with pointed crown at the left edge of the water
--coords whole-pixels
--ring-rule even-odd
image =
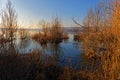
[[[11,48],[14,48],[14,41],[16,36],[16,31],[18,27],[17,22],[17,13],[12,5],[12,3],[8,0],[6,4],[6,8],[2,13],[2,27],[4,29],[4,42],[10,43]]]

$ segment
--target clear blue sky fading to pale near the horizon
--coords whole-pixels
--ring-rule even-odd
[[[5,5],[7,0],[1,0]],[[74,17],[80,23],[90,8],[99,4],[100,0],[11,0],[22,24],[37,24],[45,20],[51,21],[59,16],[65,27],[74,26]]]

